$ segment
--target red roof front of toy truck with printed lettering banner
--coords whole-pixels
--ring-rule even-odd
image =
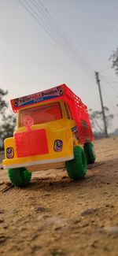
[[[44,102],[44,101],[49,102],[50,100],[53,100],[55,98],[57,99],[63,98],[64,100],[69,98],[69,101],[76,102],[77,107],[82,108],[84,106],[85,109],[87,108],[83,104],[81,99],[78,96],[76,96],[68,88],[68,86],[65,83],[57,87],[52,87],[45,91],[39,91],[32,95],[26,95],[20,98],[13,98],[11,99],[10,102],[11,102],[13,111],[17,113],[19,109],[23,109],[26,106],[33,106],[35,104],[40,104],[41,102]]]

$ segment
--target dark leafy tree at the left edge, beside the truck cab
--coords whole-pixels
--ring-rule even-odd
[[[13,113],[6,113],[8,109],[7,102],[3,99],[8,91],[0,89],[0,150],[3,149],[4,139],[13,136],[16,126],[16,117]]]

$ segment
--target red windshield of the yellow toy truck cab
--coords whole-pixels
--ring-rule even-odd
[[[42,124],[62,118],[59,102],[53,102],[43,106],[20,110],[19,126],[24,126],[24,118],[31,117],[34,124]]]

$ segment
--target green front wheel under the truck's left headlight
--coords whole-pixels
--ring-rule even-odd
[[[12,184],[17,187],[27,186],[31,181],[31,173],[25,167],[9,169],[8,176]]]

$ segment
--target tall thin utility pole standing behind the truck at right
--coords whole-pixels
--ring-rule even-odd
[[[105,137],[108,138],[107,125],[106,125],[106,121],[105,121],[105,111],[104,111],[104,106],[103,106],[103,101],[102,101],[102,96],[101,96],[101,85],[100,85],[100,79],[99,79],[98,72],[95,72],[95,78],[96,78],[96,82],[98,83],[98,91],[99,91],[100,100],[101,100],[101,111],[102,111],[103,121],[104,121],[104,126],[105,126]]]

